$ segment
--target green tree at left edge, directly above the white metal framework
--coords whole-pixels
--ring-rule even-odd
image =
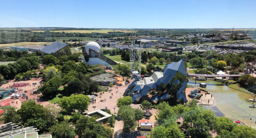
[[[2,118],[4,123],[19,123],[20,115],[16,113],[16,107],[5,105],[1,109],[3,110]]]

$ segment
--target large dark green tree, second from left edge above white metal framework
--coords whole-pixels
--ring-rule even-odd
[[[44,106],[38,105],[34,100],[25,101],[17,111],[22,122],[27,122],[28,119],[46,119],[46,113]]]

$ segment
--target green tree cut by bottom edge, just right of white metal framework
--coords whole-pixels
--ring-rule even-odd
[[[74,127],[69,125],[71,125],[71,123],[68,121],[57,123],[49,128],[49,132],[52,134],[53,138],[75,138]]]

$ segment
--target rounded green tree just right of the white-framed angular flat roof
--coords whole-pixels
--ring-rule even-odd
[[[124,127],[123,127],[124,132],[135,130],[136,120],[135,120],[134,109],[131,106],[124,105],[119,107],[117,116],[124,122]]]

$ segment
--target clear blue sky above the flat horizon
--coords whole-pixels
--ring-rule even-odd
[[[256,0],[0,0],[0,28],[256,28]]]

